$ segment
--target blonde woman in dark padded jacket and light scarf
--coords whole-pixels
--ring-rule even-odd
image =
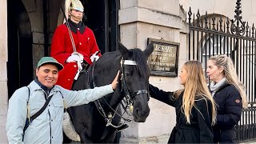
[[[242,109],[246,109],[246,93],[242,82],[234,70],[231,58],[215,55],[207,62],[210,91],[217,103],[217,122],[214,128],[214,142],[235,143],[237,134],[235,125],[241,118]]]

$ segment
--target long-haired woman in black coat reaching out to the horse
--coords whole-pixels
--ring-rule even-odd
[[[166,92],[150,85],[150,96],[176,109],[176,126],[168,143],[212,143],[216,118],[214,99],[206,86],[202,63],[189,61],[182,66],[180,83],[185,89]]]

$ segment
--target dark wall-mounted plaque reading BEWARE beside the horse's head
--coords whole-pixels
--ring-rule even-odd
[[[148,38],[148,44],[154,42],[154,51],[148,59],[151,75],[177,77],[179,43]]]

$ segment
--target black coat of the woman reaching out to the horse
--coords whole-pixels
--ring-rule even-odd
[[[183,93],[175,100],[173,92],[159,90],[157,87],[150,85],[150,96],[174,106],[176,109],[176,126],[170,134],[168,143],[213,143],[210,100],[205,101],[201,96],[196,97],[195,106],[197,109],[192,108],[190,124],[188,124],[185,114],[182,113]]]

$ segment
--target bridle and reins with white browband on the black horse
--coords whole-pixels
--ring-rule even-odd
[[[94,66],[95,66],[96,62],[93,63],[93,66],[92,66],[92,84],[94,87],[97,87],[95,82],[94,82]],[[139,94],[146,94],[148,99],[150,98],[150,93],[149,93],[149,90],[137,90],[137,91],[134,91],[134,92],[130,92],[130,90],[128,89],[128,86],[126,85],[126,78],[125,78],[125,70],[124,70],[124,66],[125,65],[129,65],[129,66],[136,66],[137,63],[135,61],[131,61],[131,60],[124,60],[123,58],[121,59],[120,61],[120,66],[121,66],[121,70],[120,70],[120,74],[121,74],[121,83],[122,83],[122,87],[121,87],[121,94],[123,92],[123,94],[125,94],[125,97],[123,98],[123,102],[125,104],[123,104],[122,102],[122,107],[124,108],[126,114],[129,114],[129,115],[132,115],[133,113],[133,110],[134,110],[134,107],[133,107],[133,99],[134,97],[136,97],[137,95]],[[102,97],[103,101],[106,103],[107,106],[110,107],[111,110],[113,110],[113,113],[112,114],[111,112],[109,112],[108,114],[106,114],[105,110],[103,109],[102,107],[102,104],[99,102],[99,100],[96,100],[94,101],[97,109],[98,109],[98,112],[102,115],[103,118],[105,118],[105,121],[106,121],[106,126],[112,126],[114,128],[118,128],[118,127],[121,127],[122,125],[125,124],[125,122],[130,122],[131,120],[129,118],[123,118],[123,114],[118,114],[117,112],[117,109],[118,107],[116,108],[116,110],[114,110],[114,108],[112,108],[110,106],[110,104],[108,102],[106,102],[106,99],[104,97]],[[127,107],[129,108],[130,110],[130,113],[127,112]],[[115,114],[117,114],[120,118],[121,118],[121,124],[119,124],[118,126],[114,126],[111,122],[112,122],[112,119],[114,118]]]

